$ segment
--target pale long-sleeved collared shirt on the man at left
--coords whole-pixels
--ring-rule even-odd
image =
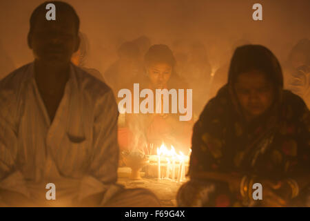
[[[119,189],[117,118],[112,90],[71,65],[51,123],[34,64],[15,70],[0,81],[0,188],[41,202],[54,183],[59,206],[99,191],[106,202]]]

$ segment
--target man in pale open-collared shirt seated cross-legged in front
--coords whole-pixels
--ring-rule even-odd
[[[54,3],[56,21],[45,19]],[[0,81],[0,204],[159,206],[116,184],[118,110],[112,90],[70,62],[79,48],[72,6],[49,1],[30,17],[34,62]],[[47,200],[46,184],[56,186]]]

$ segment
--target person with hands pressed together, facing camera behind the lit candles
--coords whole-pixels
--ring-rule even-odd
[[[185,89],[186,102],[187,85],[178,77],[175,72],[175,65],[174,55],[168,46],[162,44],[151,46],[145,54],[145,75],[139,75],[133,82],[139,83],[140,90],[143,90],[143,88],[153,90],[154,99],[156,89],[166,88],[170,90],[174,88],[176,91]],[[133,85],[127,86],[127,88],[132,87]],[[173,145],[183,153],[188,153],[192,135],[192,120],[180,121],[179,113],[171,113],[172,101],[170,95],[169,113],[163,113],[163,100],[161,104],[161,113],[155,113],[154,105],[154,113],[126,114],[126,126],[120,128],[118,132],[121,149],[131,151],[136,148],[143,149],[145,144],[154,144],[156,151],[156,147],[165,142],[168,147]],[[131,142],[127,142],[127,140]]]

